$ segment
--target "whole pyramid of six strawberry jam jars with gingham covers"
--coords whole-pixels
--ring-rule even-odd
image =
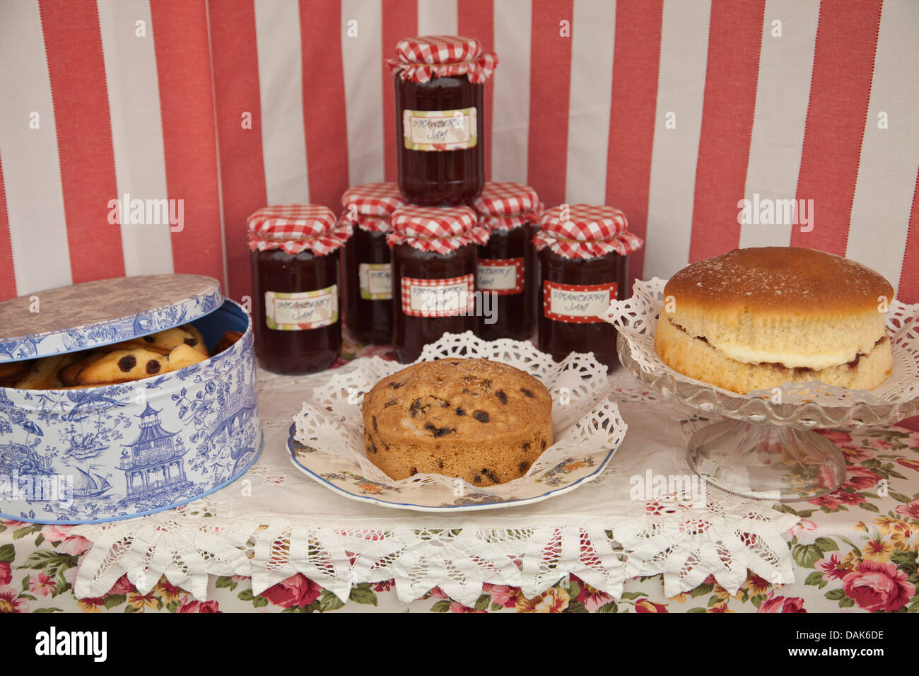
[[[391,343],[402,362],[445,332],[527,339],[538,326],[556,360],[593,351],[617,364],[615,328],[599,314],[628,292],[641,246],[622,212],[543,213],[534,189],[485,182],[484,83],[498,60],[479,40],[407,38],[387,63],[398,182],[346,190],[337,220],[315,205],[249,218],[262,366],[328,368],[341,352],[340,289],[350,333]]]

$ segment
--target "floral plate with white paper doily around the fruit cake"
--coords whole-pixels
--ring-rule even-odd
[[[627,425],[608,398],[607,367],[592,354],[572,353],[560,363],[529,342],[485,341],[467,331],[426,345],[418,361],[450,357],[502,361],[549,389],[555,443],[526,475],[476,487],[435,474],[395,481],[372,464],[364,451],[363,395],[380,378],[405,368],[379,357],[357,359],[349,372],[334,372],[303,402],[289,445],[293,464],[347,498],[408,510],[483,510],[528,504],[583,485],[602,472],[625,437]]]

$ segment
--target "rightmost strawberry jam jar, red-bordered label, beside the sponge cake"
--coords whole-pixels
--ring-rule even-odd
[[[599,315],[629,289],[629,254],[643,242],[626,229],[625,215],[602,205],[562,204],[539,221],[542,308],[539,349],[562,361],[569,352],[593,352],[618,368],[618,331]]]

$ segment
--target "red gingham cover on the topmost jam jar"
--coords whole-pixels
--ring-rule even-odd
[[[403,80],[427,82],[432,77],[466,75],[471,83],[491,77],[498,57],[482,53],[482,43],[459,35],[423,35],[403,38],[396,44],[396,58],[386,63]]]

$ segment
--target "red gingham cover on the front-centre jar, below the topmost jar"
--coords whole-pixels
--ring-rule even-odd
[[[407,244],[422,251],[448,254],[460,246],[485,244],[488,231],[469,207],[407,206],[392,212],[389,246]]]

